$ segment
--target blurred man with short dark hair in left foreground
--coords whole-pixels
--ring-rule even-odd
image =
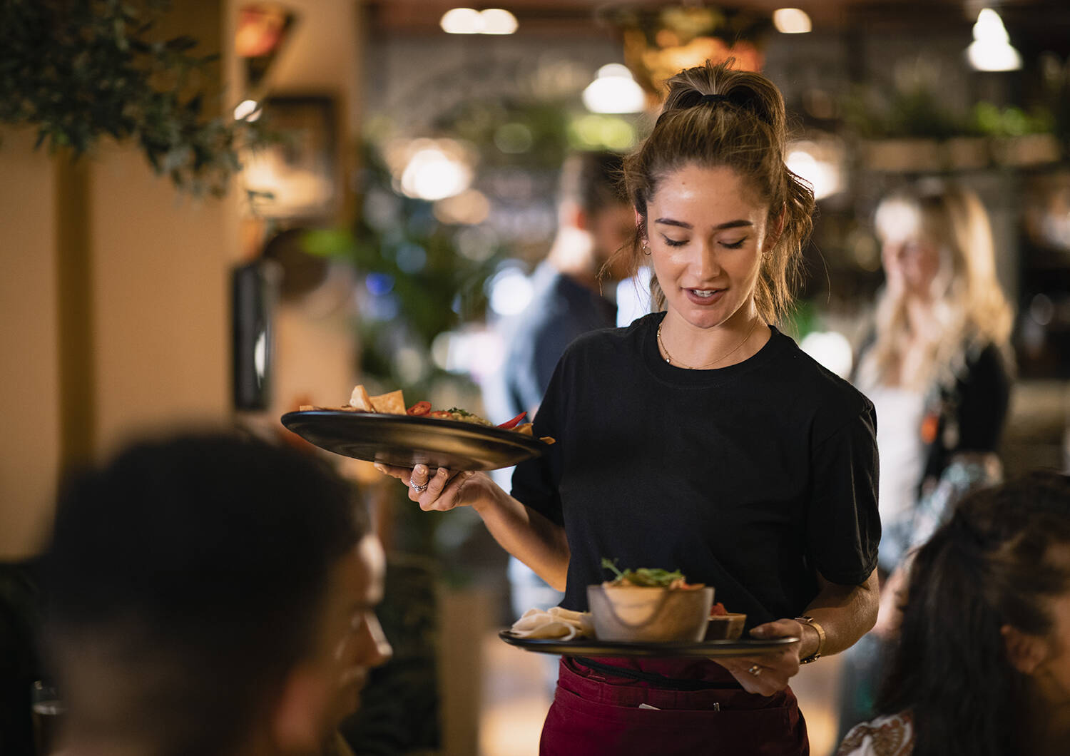
[[[72,480],[46,556],[64,754],[334,753],[370,667],[384,558],[350,483],[229,435]]]

